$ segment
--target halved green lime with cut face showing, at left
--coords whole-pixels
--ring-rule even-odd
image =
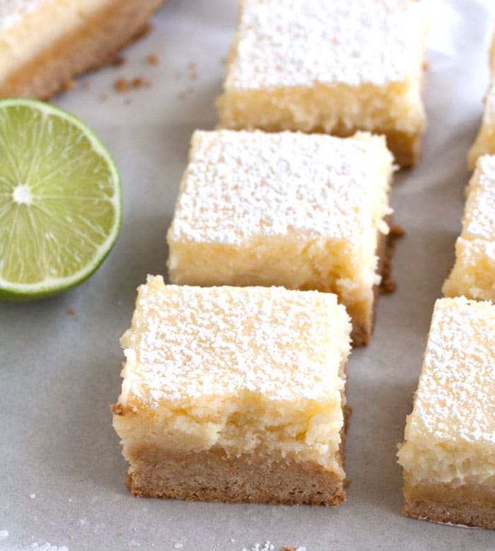
[[[35,100],[0,100],[0,298],[57,294],[115,243],[122,190],[95,134]]]

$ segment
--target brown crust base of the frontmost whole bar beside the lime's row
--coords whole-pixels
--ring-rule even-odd
[[[110,409],[116,415],[127,414],[118,403]],[[337,456],[342,467],[351,412],[351,407],[343,407],[344,424]],[[157,446],[143,446],[129,466],[126,485],[136,497],[187,501],[334,506],[345,500],[349,482],[321,465],[284,460],[256,463],[252,458],[252,455],[228,458],[221,450],[174,457]]]

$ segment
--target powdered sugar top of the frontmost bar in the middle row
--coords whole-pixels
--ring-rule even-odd
[[[129,400],[148,407],[243,391],[328,399],[343,388],[350,328],[332,294],[165,286],[148,277],[122,337],[123,393],[127,385]]]

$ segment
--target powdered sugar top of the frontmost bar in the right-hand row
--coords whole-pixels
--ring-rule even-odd
[[[495,306],[490,302],[436,301],[409,422],[410,434],[431,434],[436,441],[495,444]]]

